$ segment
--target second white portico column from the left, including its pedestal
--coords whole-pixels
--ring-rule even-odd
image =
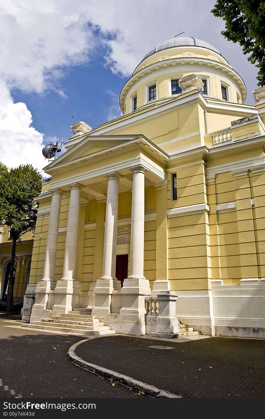
[[[57,281],[54,289],[52,314],[55,315],[68,313],[72,308],[78,307],[79,297],[82,294],[80,283],[74,279],[81,186],[79,184],[73,184],[70,188],[71,193],[66,230],[63,276],[62,279]]]

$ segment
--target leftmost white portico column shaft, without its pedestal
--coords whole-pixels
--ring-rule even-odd
[[[44,259],[44,270],[42,281],[54,282],[55,260],[57,252],[59,220],[61,210],[62,191],[55,190],[51,197],[51,211],[49,219],[49,228],[46,241],[46,251]]]

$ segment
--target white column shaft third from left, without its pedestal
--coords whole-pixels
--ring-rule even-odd
[[[118,181],[120,176],[113,173],[108,176],[108,192],[105,218],[103,272],[101,279],[117,279],[116,242],[118,224]]]

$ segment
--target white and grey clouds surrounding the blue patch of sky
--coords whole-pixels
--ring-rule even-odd
[[[203,3],[196,0],[185,3],[180,0],[2,2],[1,160],[9,167],[32,163],[39,170],[45,164],[39,153],[43,134],[31,126],[31,113],[26,104],[13,103],[10,89],[36,93],[53,89],[67,97],[59,83],[65,69],[87,62],[94,49],[102,46],[108,47],[106,66],[114,73],[129,76],[149,49],[184,30],[184,36],[195,36],[219,49],[242,75],[250,93],[256,86],[257,69],[247,62],[239,45],[221,36],[224,23],[210,13],[214,3],[214,0]],[[248,101],[253,103],[251,95]],[[108,110],[110,118],[119,114],[116,103],[113,101]]]

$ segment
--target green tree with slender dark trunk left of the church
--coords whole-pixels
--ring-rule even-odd
[[[8,170],[0,163],[0,225],[10,228],[10,237],[13,239],[8,278],[8,312],[13,308],[17,242],[23,234],[35,227],[39,204],[33,198],[40,194],[41,185],[41,174],[31,165],[20,165]]]

